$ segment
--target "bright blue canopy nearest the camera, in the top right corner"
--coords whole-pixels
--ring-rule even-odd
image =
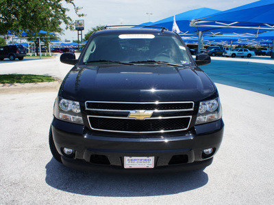
[[[255,29],[256,33],[274,30],[274,0],[256,1],[237,8],[191,20],[190,26],[235,29]]]

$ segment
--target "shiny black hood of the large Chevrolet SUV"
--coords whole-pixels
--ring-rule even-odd
[[[200,101],[216,96],[199,68],[177,66],[81,66],[64,79],[60,96],[77,101]]]

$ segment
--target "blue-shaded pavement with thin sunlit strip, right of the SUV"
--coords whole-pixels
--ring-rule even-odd
[[[216,83],[274,96],[274,59],[270,57],[213,57],[201,68]]]

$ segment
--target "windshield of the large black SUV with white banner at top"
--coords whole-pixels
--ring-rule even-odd
[[[153,34],[110,34],[96,36],[88,45],[83,63],[123,62],[134,64],[187,65],[186,47],[175,36]]]

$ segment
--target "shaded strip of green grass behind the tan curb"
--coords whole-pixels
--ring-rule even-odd
[[[53,77],[36,74],[0,74],[0,83],[42,83],[55,81]]]

